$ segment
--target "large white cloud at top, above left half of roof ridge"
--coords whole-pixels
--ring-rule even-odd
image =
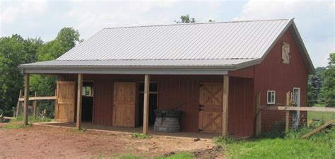
[[[180,8],[175,1],[127,1],[76,3],[75,8],[67,12],[69,18],[78,19],[74,28],[88,37],[102,28],[157,25],[173,23],[172,17],[179,18]],[[164,10],[165,12],[161,12]]]

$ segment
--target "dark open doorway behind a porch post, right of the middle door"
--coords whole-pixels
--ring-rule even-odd
[[[148,124],[155,123],[155,110],[158,106],[158,83],[150,83]],[[139,126],[143,125],[144,83],[139,83]]]

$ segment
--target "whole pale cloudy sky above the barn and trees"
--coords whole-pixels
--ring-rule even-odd
[[[72,27],[81,39],[102,28],[175,23],[189,14],[196,22],[209,19],[264,20],[295,18],[313,64],[327,66],[335,52],[334,1],[6,1],[0,0],[0,36],[53,40],[59,30]]]

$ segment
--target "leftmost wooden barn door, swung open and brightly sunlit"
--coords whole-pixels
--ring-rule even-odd
[[[55,119],[57,122],[74,122],[74,102],[76,82],[57,81],[57,107]]]

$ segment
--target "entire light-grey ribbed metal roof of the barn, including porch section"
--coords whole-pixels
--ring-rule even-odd
[[[235,70],[259,64],[292,23],[280,19],[105,28],[56,60],[19,67],[30,73],[47,73],[48,68]],[[298,33],[294,23],[293,28]],[[310,62],[305,46],[301,48]]]

